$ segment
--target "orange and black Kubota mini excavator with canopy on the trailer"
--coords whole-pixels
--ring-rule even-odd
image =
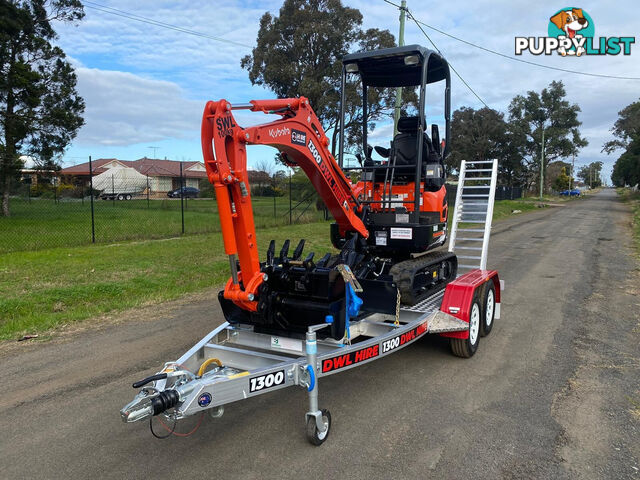
[[[354,53],[344,57],[339,122],[339,161],[304,97],[207,103],[202,150],[214,186],[231,278],[219,293],[231,324],[259,333],[304,338],[309,326],[330,323],[320,338],[348,337],[349,322],[373,313],[398,318],[400,304],[412,305],[456,278],[453,253],[435,250],[447,238],[444,159],[449,151],[450,74],[446,60],[418,45]],[[359,79],[357,78],[359,76]],[[346,168],[345,86],[361,82],[363,154],[359,167]],[[426,86],[445,82],[445,139],[437,125],[427,134]],[[417,114],[399,118],[389,148],[367,144],[368,89],[418,90]],[[266,124],[240,127],[234,110],[276,114]],[[336,254],[305,255],[300,240],[290,253],[272,240],[263,262],[258,256],[247,146],[275,147],[282,160],[307,175],[335,219],[330,227]],[[357,181],[350,175],[357,170]]]

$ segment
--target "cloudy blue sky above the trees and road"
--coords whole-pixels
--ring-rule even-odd
[[[89,155],[133,160],[155,154],[157,158],[200,161],[200,120],[207,100],[225,98],[234,103],[274,97],[267,89],[251,85],[240,59],[255,45],[260,17],[267,11],[277,15],[282,0],[84,3],[86,17],[78,25],[56,25],[58,44],[76,67],[78,90],[86,102],[85,126],[65,152],[64,166],[85,162]],[[388,29],[397,35],[399,12],[394,6],[383,0],[343,0],[343,4],[362,12],[364,28]],[[509,56],[514,56],[516,36],[546,36],[549,17],[570,6],[513,0],[452,0],[437,8],[433,5],[407,1],[418,20]],[[579,5],[593,19],[596,37],[640,33],[637,3],[617,1],[615,8],[613,5],[603,1]],[[117,9],[110,10],[117,15],[105,11],[109,7]],[[127,16],[142,16],[173,28]],[[576,165],[602,161],[608,180],[617,156],[601,153],[602,144],[612,138],[610,129],[618,112],[639,99],[640,80],[598,78],[526,65],[429,28],[425,31],[484,102],[497,110],[506,111],[515,95],[539,92],[552,80],[562,80],[567,100],[582,109],[581,132],[589,141],[576,157]],[[405,43],[433,48],[411,20],[407,20]],[[629,56],[534,56],[525,52],[520,58],[588,73],[640,77],[639,57],[640,44],[632,45]],[[455,75],[451,101],[452,110],[483,106]],[[439,105],[432,110],[436,116],[439,111]],[[269,120],[263,114],[244,111],[236,119],[242,126]],[[372,143],[384,145],[390,132],[390,126],[381,125]],[[253,147],[248,156],[250,167],[273,158],[274,153],[269,147]]]

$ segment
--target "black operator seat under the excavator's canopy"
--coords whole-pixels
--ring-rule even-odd
[[[425,189],[437,191],[445,183],[442,158],[431,145],[431,139],[424,130],[419,132],[420,117],[400,117],[398,119],[398,134],[393,139],[392,156],[395,156],[396,167],[394,177],[398,181],[414,182],[416,177],[415,165],[418,162],[418,134],[424,135],[422,143],[422,180]],[[413,166],[414,168],[409,168]]]

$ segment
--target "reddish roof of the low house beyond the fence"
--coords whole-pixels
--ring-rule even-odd
[[[175,160],[159,160],[156,158],[139,158],[138,160],[118,160],[117,158],[98,158],[92,162],[93,175],[99,175],[109,168],[122,165],[135,168],[143,175],[150,177],[179,177],[180,162]],[[60,175],[89,175],[89,162],[74,165],[60,170]],[[205,178],[207,173],[202,162],[182,162],[182,175],[186,178]]]

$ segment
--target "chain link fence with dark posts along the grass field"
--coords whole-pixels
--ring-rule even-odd
[[[290,193],[252,197],[256,228],[328,218],[315,197]],[[24,176],[12,188],[10,211],[0,217],[0,254],[220,231],[206,178],[162,180],[124,169],[88,179]]]

